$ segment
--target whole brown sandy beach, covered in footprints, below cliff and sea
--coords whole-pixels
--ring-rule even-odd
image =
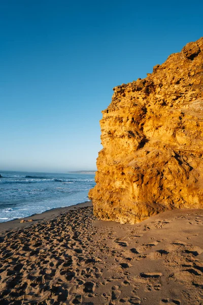
[[[203,304],[203,210],[121,225],[86,205],[1,224],[0,304]]]

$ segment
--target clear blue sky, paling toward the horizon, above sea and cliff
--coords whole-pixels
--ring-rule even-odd
[[[112,88],[203,35],[203,2],[0,0],[0,170],[94,170]]]

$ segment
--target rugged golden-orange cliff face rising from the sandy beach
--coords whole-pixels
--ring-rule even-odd
[[[203,208],[203,38],[113,90],[89,192],[94,215],[134,224],[167,209]]]

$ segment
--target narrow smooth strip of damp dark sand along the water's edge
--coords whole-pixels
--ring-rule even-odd
[[[21,229],[24,227],[32,226],[33,224],[40,224],[42,222],[52,220],[71,209],[78,209],[78,208],[86,207],[86,206],[92,206],[92,202],[85,201],[85,202],[77,203],[77,204],[70,205],[70,206],[56,207],[56,208],[52,208],[50,210],[44,211],[39,214],[36,213],[36,214],[32,214],[31,216],[28,216],[28,217],[16,218],[14,220],[2,222],[2,223],[0,223],[0,233],[2,234],[4,231],[8,231],[8,230],[10,231],[10,230],[15,230],[15,229]],[[29,219],[32,219],[33,221],[28,222]],[[22,221],[22,220],[25,220],[26,222],[20,223],[20,221]]]

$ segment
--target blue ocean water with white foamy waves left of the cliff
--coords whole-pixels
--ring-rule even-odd
[[[0,172],[0,222],[89,201],[94,174]]]

